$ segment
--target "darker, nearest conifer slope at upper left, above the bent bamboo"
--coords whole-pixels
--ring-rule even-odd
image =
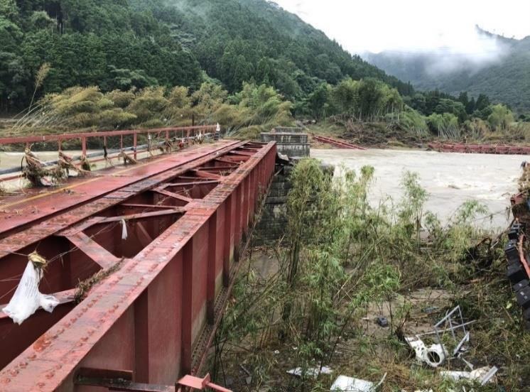
[[[1,0],[0,10],[0,110],[77,85],[200,85],[195,56],[128,1]]]

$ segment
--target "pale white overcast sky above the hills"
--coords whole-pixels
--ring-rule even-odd
[[[352,53],[450,47],[485,54],[475,25],[507,37],[530,36],[530,0],[275,0]]]

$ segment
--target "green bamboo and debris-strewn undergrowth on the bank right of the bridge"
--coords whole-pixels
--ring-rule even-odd
[[[338,374],[371,381],[387,374],[384,392],[457,391],[416,364],[404,337],[431,330],[460,305],[465,321],[476,320],[465,359],[501,369],[498,385],[475,390],[524,391],[530,335],[505,280],[504,239],[487,239],[473,225],[485,207],[467,202],[441,224],[424,209],[418,176],[404,173],[402,199],[373,208],[374,169],[341,172],[332,179],[310,159],[294,168],[286,237],[265,254],[251,252],[217,334],[217,381],[229,375],[236,391],[316,392],[329,391]],[[375,323],[381,315],[388,328]],[[249,385],[247,374],[238,380],[240,365]],[[298,366],[300,378],[286,374]],[[323,366],[333,375],[313,379],[309,369]]]

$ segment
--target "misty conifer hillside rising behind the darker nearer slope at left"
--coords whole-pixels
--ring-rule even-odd
[[[230,92],[243,81],[271,84],[292,100],[320,82],[376,77],[409,93],[396,77],[343,50],[298,16],[264,0],[131,0],[170,26],[207,75]]]

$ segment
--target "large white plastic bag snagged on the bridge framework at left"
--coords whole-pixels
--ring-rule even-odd
[[[40,271],[33,266],[31,261],[28,261],[13,297],[2,309],[18,325],[33,315],[39,307],[51,313],[55,306],[59,305],[59,301],[53,295],[44,295],[38,290],[38,284],[42,278]]]

